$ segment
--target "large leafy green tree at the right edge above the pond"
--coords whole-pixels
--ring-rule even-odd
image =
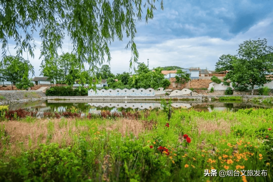
[[[266,39],[247,40],[239,44],[238,55],[222,55],[216,62],[216,70],[229,70],[225,82],[232,82],[233,87],[245,90],[250,85],[253,95],[254,86],[263,86],[271,81],[273,73],[273,47]]]

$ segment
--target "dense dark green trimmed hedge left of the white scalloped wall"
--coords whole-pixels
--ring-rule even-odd
[[[46,96],[87,96],[87,88],[75,88],[71,86],[52,86],[46,90]]]

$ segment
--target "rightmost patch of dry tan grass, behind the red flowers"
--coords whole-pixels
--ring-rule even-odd
[[[196,125],[198,128],[199,135],[201,132],[214,133],[218,131],[220,135],[225,133],[226,135],[230,133],[230,128],[235,125],[234,121],[220,120],[204,120],[203,118],[196,118]]]

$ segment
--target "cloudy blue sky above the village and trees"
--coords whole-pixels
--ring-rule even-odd
[[[215,69],[222,54],[236,55],[239,44],[246,40],[266,38],[273,46],[272,0],[160,0],[156,3],[154,18],[136,23],[135,43],[139,52],[138,62],[149,68],[179,66]],[[143,9],[143,12],[146,12]],[[28,57],[34,66],[35,76],[40,74],[40,41],[35,37],[34,58]],[[125,34],[124,34],[125,37]],[[64,40],[62,52],[71,52],[69,39]],[[129,72],[130,49],[128,39],[111,44],[111,72]],[[12,45],[10,45],[12,46]],[[15,50],[11,50],[15,53]],[[15,54],[14,54],[15,55]],[[26,53],[23,54],[27,58]],[[107,63],[105,63],[107,64]],[[130,70],[131,71],[131,70]],[[34,77],[30,75],[30,77]]]

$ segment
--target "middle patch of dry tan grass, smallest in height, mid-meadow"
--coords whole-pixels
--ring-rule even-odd
[[[149,126],[150,124],[146,124],[145,121],[122,118],[117,121],[106,121],[104,125],[99,126],[99,130],[105,128],[106,130],[117,130],[122,135],[133,133],[133,135],[138,136],[139,133],[145,131],[145,128],[148,127],[149,129]]]

